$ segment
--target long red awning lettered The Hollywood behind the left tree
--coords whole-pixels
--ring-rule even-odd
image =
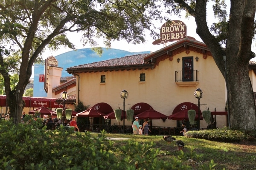
[[[46,108],[59,108],[59,104],[54,98],[44,98],[44,97],[26,97],[23,96],[26,108],[39,108],[44,106]],[[0,106],[6,107],[6,96],[0,95]]]

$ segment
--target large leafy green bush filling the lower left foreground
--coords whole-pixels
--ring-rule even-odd
[[[155,144],[126,141],[120,155],[113,154],[113,141],[105,138],[104,130],[97,137],[90,132],[74,133],[61,126],[58,130],[42,129],[41,120],[14,125],[0,122],[1,170],[185,170],[181,159],[158,160]],[[208,168],[209,169],[209,168]]]

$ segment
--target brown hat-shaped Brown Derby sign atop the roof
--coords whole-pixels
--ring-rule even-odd
[[[164,23],[160,30],[160,39],[153,42],[154,45],[170,41],[178,41],[187,37],[186,24],[179,20]]]

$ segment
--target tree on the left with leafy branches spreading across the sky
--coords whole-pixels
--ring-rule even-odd
[[[0,56],[0,74],[3,75],[9,106],[17,105],[15,122],[20,122],[22,95],[32,74],[32,65],[41,59],[46,48],[58,49],[75,46],[67,39],[66,32],[83,32],[82,43],[96,46],[94,37],[102,37],[107,47],[111,40],[127,42],[145,41],[144,30],[153,26],[151,20],[160,19],[157,6],[149,0],[0,0],[0,43],[11,44],[12,56],[19,64],[19,81],[10,88],[9,65]],[[154,31],[151,35],[156,37]],[[19,96],[18,103],[11,102]],[[16,108],[16,107],[15,107]],[[11,114],[14,116],[13,114]]]

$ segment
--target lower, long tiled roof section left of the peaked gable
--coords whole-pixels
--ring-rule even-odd
[[[148,54],[137,54],[132,56],[126,56],[121,58],[109,59],[100,62],[93,62],[89,64],[82,64],[74,67],[67,68],[68,73],[82,72],[82,71],[106,71],[106,70],[116,70],[116,69],[131,69],[131,68],[150,68],[151,63],[145,63],[143,58]]]

